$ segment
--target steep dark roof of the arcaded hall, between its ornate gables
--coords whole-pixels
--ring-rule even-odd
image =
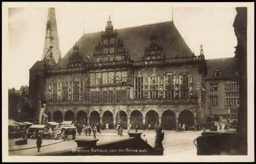
[[[186,57],[193,53],[188,48],[184,39],[174,25],[173,21],[157,24],[143,25],[117,30],[118,37],[123,39],[124,48],[129,51],[131,57],[137,61],[143,56],[145,46],[150,44],[150,35],[155,31],[157,41],[162,44],[163,52],[167,58]],[[100,41],[101,32],[84,34],[78,41],[79,52],[85,59],[94,53],[95,42]],[[56,67],[67,67],[72,49],[60,60]]]

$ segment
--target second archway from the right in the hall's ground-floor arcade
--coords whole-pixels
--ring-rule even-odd
[[[172,110],[165,110],[162,113],[162,128],[165,130],[176,130],[176,116]]]

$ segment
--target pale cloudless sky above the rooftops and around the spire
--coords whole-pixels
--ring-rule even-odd
[[[65,4],[65,3],[63,3]],[[61,57],[86,33],[102,31],[111,16],[114,29],[174,19],[189,46],[206,59],[234,56],[237,38],[234,6],[186,6],[177,3],[82,3],[80,5],[23,6],[8,10],[8,88],[29,84],[29,69],[41,60],[44,48],[47,7],[55,7]],[[172,12],[173,11],[173,12]],[[173,14],[172,14],[173,13]],[[84,22],[84,26],[83,26]],[[18,80],[17,80],[18,79]]]

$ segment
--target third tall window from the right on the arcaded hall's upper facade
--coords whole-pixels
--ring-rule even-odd
[[[150,77],[150,99],[157,99],[159,91],[159,76]]]

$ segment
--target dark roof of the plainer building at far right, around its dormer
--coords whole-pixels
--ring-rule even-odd
[[[207,65],[207,75],[206,79],[212,79],[214,77],[214,72],[219,69],[221,72],[220,78],[233,78],[234,72],[238,70],[237,59],[232,58],[219,58],[219,59],[208,59],[206,60]]]

